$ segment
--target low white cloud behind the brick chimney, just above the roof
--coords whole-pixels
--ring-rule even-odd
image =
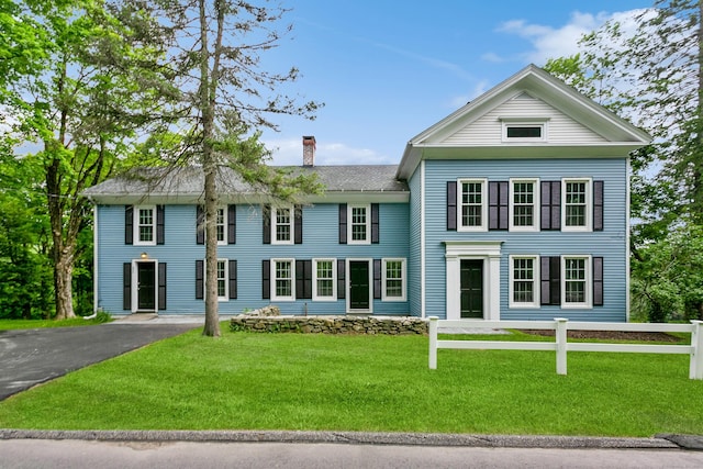
[[[303,163],[303,145],[300,138],[271,139],[266,147],[274,150],[276,166],[300,166]],[[320,143],[315,150],[315,165],[391,165],[398,163],[388,155],[369,148],[355,148],[344,143]]]

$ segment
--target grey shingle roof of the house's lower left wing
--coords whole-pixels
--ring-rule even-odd
[[[397,165],[358,166],[286,166],[280,167],[297,172],[315,172],[325,191],[334,192],[409,192],[405,181],[398,180]],[[177,169],[144,168],[129,175],[119,176],[83,191],[83,196],[102,199],[105,197],[200,197],[204,176],[199,167]],[[217,188],[226,194],[256,194],[254,187],[246,183],[230,168],[222,168],[217,177]]]

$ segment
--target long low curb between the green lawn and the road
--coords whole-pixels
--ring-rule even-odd
[[[0,439],[85,439],[107,442],[336,443],[350,445],[467,446],[489,448],[703,449],[703,436],[652,438],[468,435],[292,431],[35,431],[2,429]]]

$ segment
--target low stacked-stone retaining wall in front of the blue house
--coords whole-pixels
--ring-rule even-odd
[[[427,322],[420,317],[354,316],[258,316],[232,317],[231,331],[292,332],[300,334],[427,334]]]

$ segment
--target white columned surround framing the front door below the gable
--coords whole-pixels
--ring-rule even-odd
[[[460,264],[462,259],[483,260],[483,319],[501,316],[501,245],[502,241],[445,241],[446,317],[461,319]]]

